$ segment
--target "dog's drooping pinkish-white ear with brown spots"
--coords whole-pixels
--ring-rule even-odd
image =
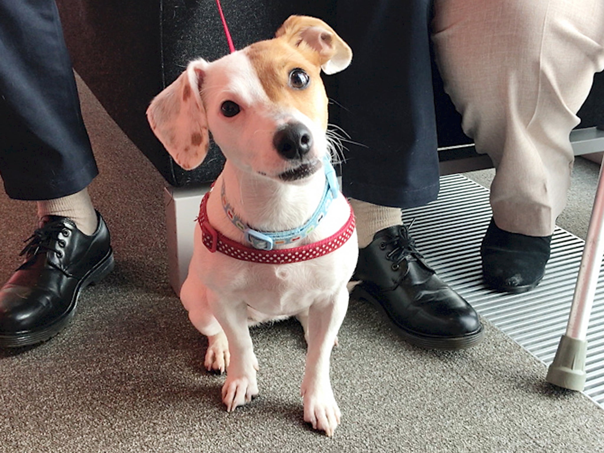
[[[208,120],[199,94],[207,65],[202,59],[189,63],[147,109],[153,133],[185,170],[201,164],[208,152]]]

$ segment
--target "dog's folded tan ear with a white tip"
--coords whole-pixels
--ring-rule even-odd
[[[333,29],[321,19],[309,16],[289,16],[275,33],[294,46],[302,42],[319,54],[321,69],[326,74],[335,74],[350,65],[352,50]]]

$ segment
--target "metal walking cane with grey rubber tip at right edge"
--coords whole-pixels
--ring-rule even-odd
[[[604,182],[602,166],[591,210],[590,226],[583,247],[573,304],[567,330],[558,344],[556,356],[547,370],[547,382],[558,387],[582,391],[585,387],[585,356],[587,352],[587,325],[594,303],[600,265],[604,255]]]

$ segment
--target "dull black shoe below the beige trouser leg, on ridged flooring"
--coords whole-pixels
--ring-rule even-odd
[[[525,236],[501,230],[491,219],[480,246],[483,278],[497,291],[521,293],[535,288],[550,259],[551,236]]]

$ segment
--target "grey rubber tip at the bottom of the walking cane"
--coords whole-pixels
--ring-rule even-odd
[[[547,382],[569,390],[582,391],[585,387],[586,353],[586,340],[562,335],[554,361],[547,370]]]

